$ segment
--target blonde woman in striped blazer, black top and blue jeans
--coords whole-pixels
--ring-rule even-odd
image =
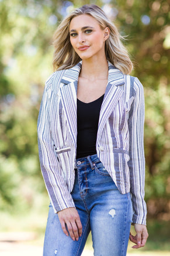
[[[126,255],[147,240],[144,94],[120,35],[84,5],[54,35],[54,70],[41,102],[41,171],[50,196],[44,256]],[[136,236],[130,234],[134,224]]]

